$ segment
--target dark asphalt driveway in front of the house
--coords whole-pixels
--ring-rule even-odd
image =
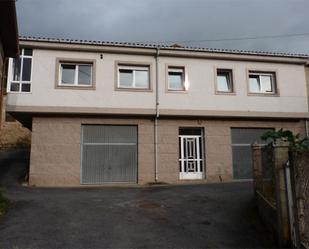
[[[99,189],[7,186],[11,208],[0,220],[1,249],[274,247],[257,218],[248,182]]]

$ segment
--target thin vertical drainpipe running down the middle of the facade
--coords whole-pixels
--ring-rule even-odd
[[[154,123],[154,150],[155,150],[155,182],[158,181],[158,119],[160,116],[159,112],[159,55],[160,55],[160,47],[156,48],[156,116],[155,116],[155,123]]]

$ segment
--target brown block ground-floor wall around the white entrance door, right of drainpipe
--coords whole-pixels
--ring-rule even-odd
[[[233,179],[231,128],[284,128],[305,134],[304,122],[231,121],[231,120],[160,120],[159,180],[179,183],[179,127],[202,127],[205,133],[206,180],[209,182]]]

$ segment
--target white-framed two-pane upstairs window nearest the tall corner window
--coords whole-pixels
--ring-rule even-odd
[[[92,63],[59,63],[59,86],[91,87],[93,78]]]

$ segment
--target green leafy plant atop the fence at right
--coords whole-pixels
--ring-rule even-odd
[[[280,142],[286,142],[290,149],[295,151],[309,151],[309,139],[300,139],[300,135],[294,135],[290,130],[280,129],[278,131],[267,131],[261,139],[264,141],[270,141],[270,144],[278,144]]]

